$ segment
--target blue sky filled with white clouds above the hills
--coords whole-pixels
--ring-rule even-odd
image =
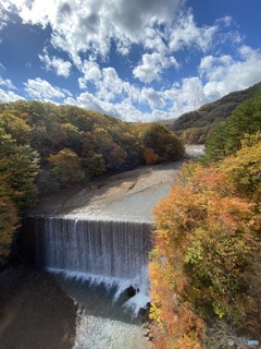
[[[261,81],[260,0],[0,0],[0,101],[129,122]]]

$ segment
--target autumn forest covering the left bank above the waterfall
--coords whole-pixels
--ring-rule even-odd
[[[184,155],[179,139],[159,123],[36,100],[0,104],[0,264],[21,217],[40,197]]]

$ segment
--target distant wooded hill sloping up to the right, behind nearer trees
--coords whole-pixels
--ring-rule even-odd
[[[231,116],[240,104],[249,99],[261,86],[256,84],[247,89],[233,92],[198,110],[186,112],[175,120],[163,120],[163,124],[179,135],[185,143],[203,144],[212,131]]]

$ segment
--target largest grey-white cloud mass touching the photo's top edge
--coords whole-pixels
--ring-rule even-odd
[[[52,44],[66,50],[75,62],[78,52],[91,51],[107,56],[114,40],[121,53],[132,44],[149,43],[146,29],[156,24],[170,25],[184,0],[7,0],[5,7],[16,8],[25,23],[52,28]],[[160,32],[150,38],[160,40]],[[158,37],[158,38],[157,38]]]

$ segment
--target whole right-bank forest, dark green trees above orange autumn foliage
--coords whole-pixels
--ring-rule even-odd
[[[261,98],[222,122],[157,207],[150,318],[157,348],[261,342]],[[233,344],[232,344],[233,345]]]

